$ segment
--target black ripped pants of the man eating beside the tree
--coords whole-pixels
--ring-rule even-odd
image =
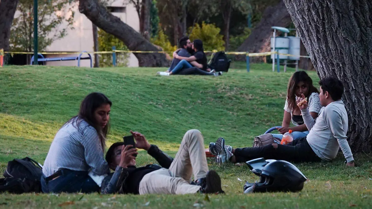
[[[319,162],[321,161],[308,144],[306,138],[296,139],[288,145],[278,144],[274,148],[272,144],[262,147],[246,147],[235,149],[236,163],[246,162],[256,158],[265,158],[273,160],[285,160],[291,162]]]

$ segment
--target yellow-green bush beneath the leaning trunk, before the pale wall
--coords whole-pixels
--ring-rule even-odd
[[[103,30],[98,30],[98,51],[112,51],[112,46],[116,46],[116,50],[128,50],[126,45],[110,33]],[[129,53],[116,53],[116,66],[126,67],[128,65]],[[112,54],[99,54],[100,67],[112,66]]]

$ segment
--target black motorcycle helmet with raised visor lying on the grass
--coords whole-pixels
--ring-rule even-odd
[[[251,192],[298,192],[307,180],[298,168],[284,160],[257,158],[247,161],[251,171],[260,176],[256,183],[244,184],[244,193]]]

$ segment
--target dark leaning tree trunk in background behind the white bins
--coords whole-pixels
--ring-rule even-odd
[[[291,16],[287,7],[280,1],[275,6],[265,9],[261,21],[252,30],[251,35],[239,46],[240,52],[268,52],[270,51],[270,37],[273,35],[272,26],[288,27],[291,24]],[[252,62],[262,62],[266,57],[255,57]],[[245,60],[245,56],[237,56],[237,60]]]

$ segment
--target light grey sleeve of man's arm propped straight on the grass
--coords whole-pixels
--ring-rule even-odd
[[[353,154],[351,152],[349,143],[347,142],[346,131],[343,128],[342,118],[339,112],[336,111],[337,107],[328,108],[326,114],[324,114],[324,120],[331,130],[334,138],[339,142],[342,153],[344,154],[346,161],[350,162],[354,160]]]

